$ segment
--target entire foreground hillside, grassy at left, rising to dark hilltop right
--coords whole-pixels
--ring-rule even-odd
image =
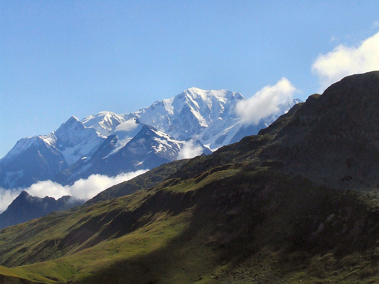
[[[377,98],[379,71],[348,76],[257,135],[0,230],[0,279],[377,282]]]

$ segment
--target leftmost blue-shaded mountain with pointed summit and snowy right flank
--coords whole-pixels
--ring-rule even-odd
[[[106,137],[71,117],[56,131],[20,139],[0,160],[0,185],[27,187],[54,177],[82,157],[91,155]]]

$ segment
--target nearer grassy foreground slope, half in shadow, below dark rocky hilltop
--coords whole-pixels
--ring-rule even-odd
[[[57,245],[29,260],[46,257],[46,250],[48,259],[64,256],[10,271],[40,275],[28,276],[33,280],[88,283],[376,279],[379,213],[373,196],[316,187],[268,162],[177,181],[67,213],[38,238],[24,240],[30,252],[9,253],[13,265],[25,263],[39,239]],[[113,217],[100,222],[104,229],[88,241],[64,243],[73,228],[85,233],[85,224],[96,227],[90,220],[107,214]],[[127,222],[136,225],[125,231]],[[18,235],[17,229],[10,227],[9,235]]]

